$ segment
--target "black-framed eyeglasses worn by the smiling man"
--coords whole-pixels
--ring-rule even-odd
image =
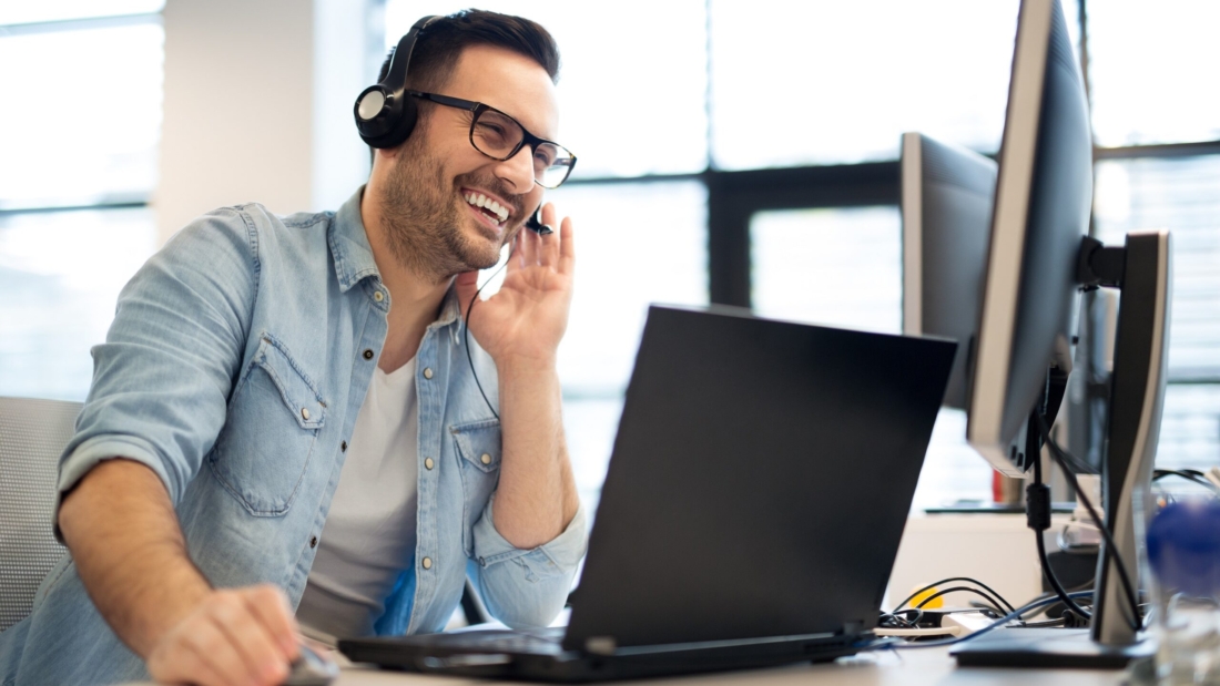
[[[576,167],[576,156],[569,149],[553,140],[536,136],[527,132],[521,122],[495,107],[436,93],[407,90],[406,94],[445,107],[471,112],[473,116],[470,121],[470,143],[475,150],[492,160],[501,162],[511,160],[523,146],[528,145],[533,150],[534,183],[543,188],[559,188]]]

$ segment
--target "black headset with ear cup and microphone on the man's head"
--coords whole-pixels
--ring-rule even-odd
[[[411,136],[418,118],[418,104],[406,95],[406,74],[420,34],[438,18],[440,17],[429,15],[415,22],[411,30],[398,41],[386,78],[356,96],[353,107],[356,129],[360,130],[360,138],[371,147],[396,147]],[[526,219],[526,227],[539,235],[554,232],[550,225],[542,223],[540,203]]]

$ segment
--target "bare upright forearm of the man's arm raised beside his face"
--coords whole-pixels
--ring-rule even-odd
[[[518,548],[564,531],[580,500],[564,441],[562,396],[554,361],[499,364],[504,456],[495,529]]]

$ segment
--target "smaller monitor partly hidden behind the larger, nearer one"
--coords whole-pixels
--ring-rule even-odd
[[[944,407],[966,409],[996,162],[919,133],[902,160],[903,333],[958,341]]]

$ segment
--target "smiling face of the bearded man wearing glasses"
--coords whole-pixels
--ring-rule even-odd
[[[437,91],[483,102],[534,135],[556,138],[555,87],[547,71],[523,55],[467,48]],[[390,247],[407,267],[437,277],[490,267],[542,202],[532,150],[522,146],[510,160],[492,160],[470,143],[470,112],[431,102],[421,102],[421,108],[427,112],[395,151],[388,172],[383,213]],[[499,216],[492,202],[500,206]],[[508,217],[501,221],[504,210]]]

